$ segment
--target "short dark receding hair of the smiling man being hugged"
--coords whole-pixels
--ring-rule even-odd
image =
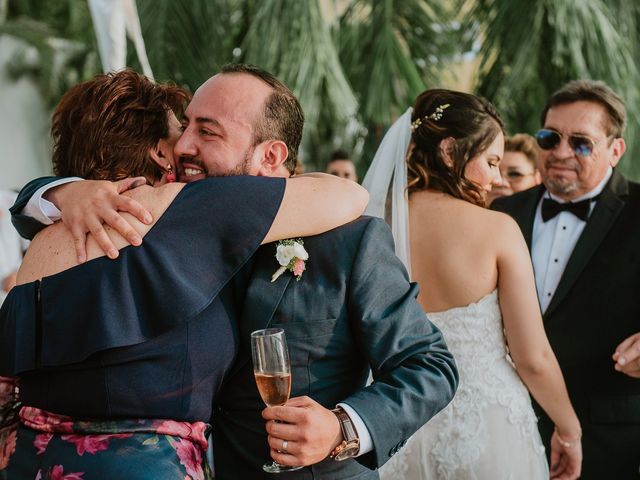
[[[230,63],[224,65],[220,73],[245,73],[259,78],[273,89],[265,101],[264,115],[254,125],[253,141],[257,145],[266,140],[282,140],[289,150],[284,165],[293,174],[298,163],[298,148],[304,127],[304,113],[296,96],[274,75],[255,65]]]

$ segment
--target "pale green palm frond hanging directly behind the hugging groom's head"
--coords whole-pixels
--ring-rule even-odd
[[[242,58],[275,73],[298,96],[305,112],[303,160],[307,168],[322,168],[319,160],[356,115],[357,101],[318,0],[260,2]]]

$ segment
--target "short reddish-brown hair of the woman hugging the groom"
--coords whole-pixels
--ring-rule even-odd
[[[169,136],[168,112],[180,118],[186,90],[131,70],[96,75],[64,94],[53,113],[53,171],[59,176],[121,180],[163,170],[149,150]]]

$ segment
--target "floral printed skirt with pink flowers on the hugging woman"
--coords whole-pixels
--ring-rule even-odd
[[[204,422],[80,421],[32,407],[0,426],[0,480],[205,480]]]

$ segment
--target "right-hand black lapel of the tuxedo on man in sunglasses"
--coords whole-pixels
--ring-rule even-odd
[[[576,282],[593,253],[600,246],[605,236],[611,229],[613,222],[620,214],[624,201],[620,196],[628,194],[627,181],[615,171],[611,177],[609,185],[600,194],[600,198],[593,209],[593,213],[587,225],[576,243],[569,262],[560,278],[558,288],[551,299],[544,314],[549,317],[566,297],[571,287]],[[533,223],[533,222],[532,222]]]

